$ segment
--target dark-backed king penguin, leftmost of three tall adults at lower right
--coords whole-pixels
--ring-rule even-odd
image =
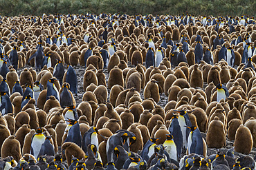
[[[181,131],[181,126],[179,125],[178,116],[174,114],[172,116],[172,123],[168,129],[170,134],[174,137],[174,143],[176,145],[176,152],[178,158],[181,156],[182,146],[183,146],[183,135]]]

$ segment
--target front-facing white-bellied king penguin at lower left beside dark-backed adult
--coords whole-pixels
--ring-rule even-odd
[[[30,147],[30,154],[38,157],[39,151],[42,147],[42,144],[46,140],[46,136],[43,134],[43,130],[40,127],[37,127],[36,134],[33,135],[31,139],[31,147]]]

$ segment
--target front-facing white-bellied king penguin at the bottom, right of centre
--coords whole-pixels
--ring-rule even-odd
[[[172,134],[166,134],[166,136],[166,140],[165,142],[163,142],[163,146],[165,146],[165,151],[167,151],[171,159],[178,161],[177,148],[174,142],[174,136],[172,136]]]

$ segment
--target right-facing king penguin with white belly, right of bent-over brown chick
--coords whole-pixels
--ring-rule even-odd
[[[89,131],[86,131],[82,138],[82,149],[84,153],[87,152],[87,147],[90,144],[95,145],[97,149],[99,148],[98,135],[102,136],[96,127],[91,127]],[[102,136],[102,138],[104,138],[104,136]]]

